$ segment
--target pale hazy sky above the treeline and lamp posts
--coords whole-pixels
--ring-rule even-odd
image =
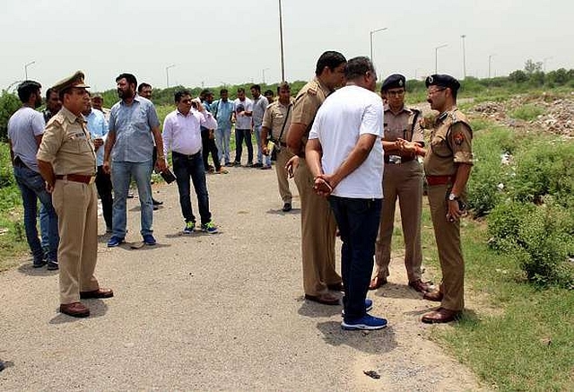
[[[379,78],[439,73],[486,77],[522,69],[574,68],[571,0],[283,0],[285,75],[307,80],[317,57],[338,50],[370,55]],[[569,27],[570,26],[570,27]],[[281,79],[278,0],[3,0],[0,89],[28,77],[44,89],[81,69],[92,91],[115,88],[122,72],[138,82],[220,85]]]

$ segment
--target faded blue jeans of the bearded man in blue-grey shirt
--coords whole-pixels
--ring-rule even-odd
[[[152,234],[153,204],[152,204],[152,157],[144,162],[112,161],[111,183],[114,188],[114,205],[112,211],[113,235],[121,239],[126,237],[126,199],[129,183],[135,180],[141,205],[140,233],[144,236]]]

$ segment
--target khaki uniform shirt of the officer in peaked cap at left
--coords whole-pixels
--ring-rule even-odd
[[[85,124],[82,116],[62,108],[48,121],[36,157],[51,162],[56,175],[94,175],[96,153]]]

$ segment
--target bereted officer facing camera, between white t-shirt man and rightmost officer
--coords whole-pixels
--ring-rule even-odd
[[[428,284],[421,276],[421,214],[422,214],[422,165],[414,151],[407,151],[404,143],[424,146],[424,134],[419,125],[421,112],[404,106],[402,74],[387,77],[381,94],[385,106],[385,170],[383,171],[383,207],[375,247],[375,276],[370,290],[387,283],[388,265],[391,261],[391,240],[395,223],[396,199],[401,209],[404,238],[404,266],[409,286],[417,292],[427,292]],[[419,149],[422,151],[422,149]]]

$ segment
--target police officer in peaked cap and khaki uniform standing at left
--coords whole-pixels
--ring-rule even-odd
[[[96,154],[82,111],[90,97],[83,73],[57,83],[63,108],[48,121],[39,145],[38,164],[58,215],[60,311],[87,317],[80,299],[109,298],[93,275],[98,250],[98,196],[94,184]]]

